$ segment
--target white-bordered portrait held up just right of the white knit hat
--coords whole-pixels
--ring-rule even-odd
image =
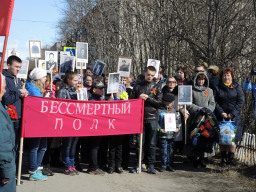
[[[58,51],[45,51],[46,70],[51,73],[54,69],[58,71]]]

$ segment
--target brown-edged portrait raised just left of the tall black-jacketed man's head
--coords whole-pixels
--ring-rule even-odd
[[[118,57],[117,72],[121,77],[130,77],[132,67],[132,58]]]

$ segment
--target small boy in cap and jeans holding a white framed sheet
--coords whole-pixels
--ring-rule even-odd
[[[173,102],[175,96],[171,93],[166,93],[162,98],[162,106],[159,108],[159,143],[160,143],[160,154],[161,154],[161,167],[160,172],[165,170],[174,172],[175,170],[172,167],[173,164],[173,142],[174,134],[173,131],[165,131],[165,114],[174,113],[175,109],[173,108]],[[176,124],[177,127],[177,124]]]

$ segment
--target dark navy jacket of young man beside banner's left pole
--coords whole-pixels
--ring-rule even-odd
[[[22,83],[20,79],[8,73],[6,69],[3,70],[3,75],[6,80],[6,93],[2,98],[2,104],[6,106],[13,105],[16,107],[15,111],[20,119],[22,113],[22,98],[20,97],[21,91],[19,89],[21,89]]]

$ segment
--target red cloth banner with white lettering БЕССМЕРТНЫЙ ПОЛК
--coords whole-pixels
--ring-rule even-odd
[[[22,137],[70,137],[142,133],[144,101],[77,101],[28,96]]]

